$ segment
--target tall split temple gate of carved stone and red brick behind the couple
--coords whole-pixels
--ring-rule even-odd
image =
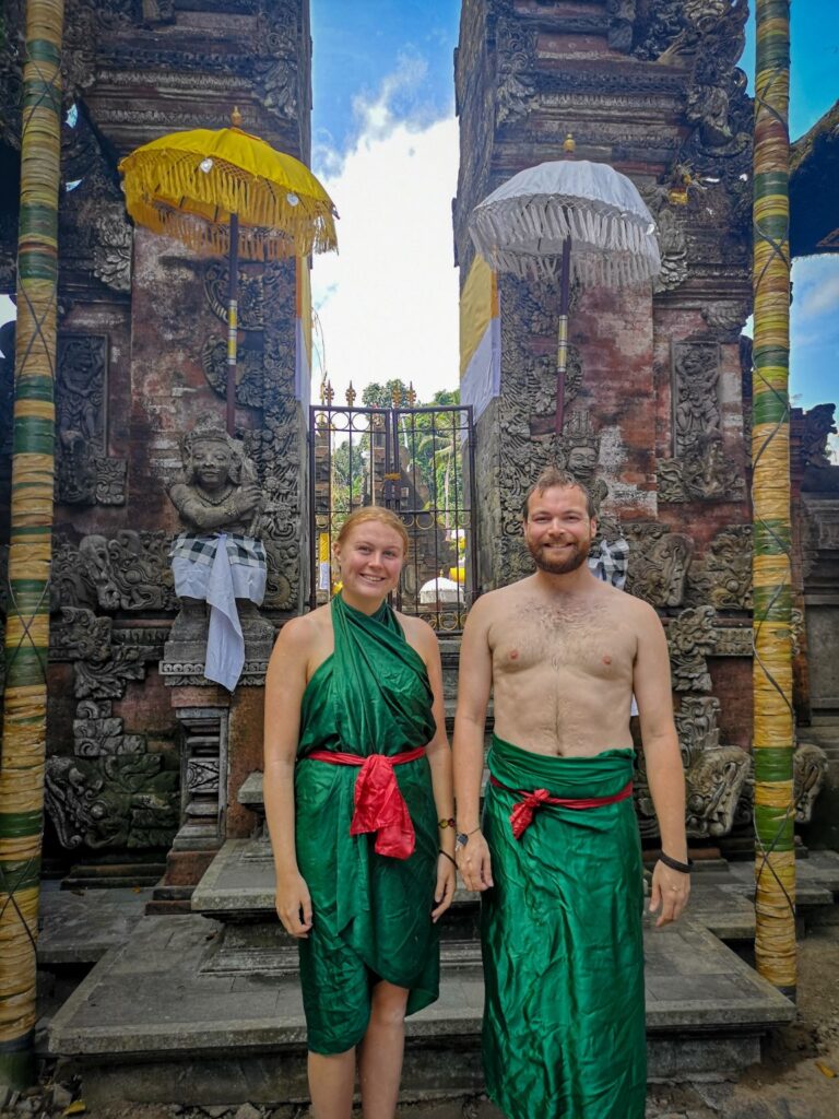
[[[22,0],[8,0],[0,39],[3,168],[19,161],[21,12]],[[464,0],[454,60],[461,162],[453,223],[464,339],[458,411],[471,407],[474,421],[466,443],[456,434],[475,492],[470,593],[528,573],[519,509],[544,464],[565,466],[591,486],[601,555],[623,542],[625,589],[654,605],[667,628],[691,846],[708,863],[718,865],[722,855],[733,866],[752,854],[752,363],[742,333],[751,311],[752,103],[736,66],[745,17],[744,0]],[[276,991],[292,1005],[296,987],[289,978],[294,953],[273,912],[261,742],[274,632],[318,601],[308,562],[323,528],[315,508],[317,420],[308,431],[309,273],[307,264],[241,266],[237,439],[221,483],[201,489],[194,478],[196,432],[224,413],[226,264],[133,228],[116,163],[175,129],[224,125],[234,104],[246,130],[308,162],[309,3],[66,0],[66,28],[44,865],[66,886],[153,887],[151,915],[121,974],[136,975],[149,990],[157,982],[160,999],[171,998],[188,974],[196,1002],[182,1052],[182,1037],[161,1032],[151,995],[148,1005],[125,1009],[148,1021],[124,1017],[107,1041],[79,996],[54,1045],[120,1064],[130,1035],[132,1060],[157,1061],[169,1072],[166,1061],[186,1052],[192,1080],[183,1091],[218,1102],[227,1099],[219,1097],[225,1078],[270,1080],[275,1068],[285,1075],[283,1062],[293,1063],[301,1050],[298,1010],[285,1025],[270,1018]],[[466,222],[511,175],[557,158],[567,133],[578,158],[609,162],[639,187],[656,219],[663,267],[643,290],[572,292],[565,426],[557,436],[558,293],[493,276],[474,257]],[[0,178],[0,292],[8,294],[16,178]],[[3,538],[12,330],[0,335]],[[826,837],[836,843],[836,825],[819,814],[823,805],[836,810],[839,781],[839,685],[824,656],[839,609],[839,468],[826,454],[831,430],[832,405],[793,416],[798,816],[807,825],[812,814],[802,831],[812,846]],[[252,486],[261,495],[258,517],[248,505]],[[225,509],[229,524],[257,523],[267,557],[265,602],[243,619],[245,664],[232,693],[204,675],[204,619],[181,609],[169,560],[173,536],[196,518],[207,521],[208,510],[217,516],[213,509]],[[443,640],[443,662],[451,715],[456,639]],[[832,800],[813,809],[828,770]],[[654,849],[643,771],[637,809]],[[172,912],[182,922],[178,935],[160,923]],[[466,1000],[479,982],[474,920],[466,899],[446,949],[446,966],[466,968],[456,988]],[[688,947],[709,935],[696,933]],[[140,965],[132,971],[138,959],[153,960],[154,972]],[[107,991],[113,976],[103,975]],[[235,1003],[225,1013],[245,1023],[235,1036],[213,1016],[200,1017],[209,1015],[205,991],[223,988]],[[417,1044],[436,1046],[435,1072],[444,1078],[451,1053],[477,1044],[479,1027],[470,1019],[464,1041],[460,1007],[440,1013],[434,1028],[417,1027]],[[662,1068],[671,1060],[668,1044],[661,1042]],[[276,1045],[281,1059],[267,1069],[262,1054]],[[690,1052],[700,1061],[697,1047]],[[252,1064],[225,1063],[242,1054]],[[284,1098],[304,1092],[294,1068],[298,1080]],[[427,1064],[409,1055],[408,1076],[422,1083],[424,1075]]]

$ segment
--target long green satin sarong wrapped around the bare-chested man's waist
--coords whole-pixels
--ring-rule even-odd
[[[494,887],[482,896],[483,1066],[508,1119],[643,1119],[643,882],[632,797],[543,805],[519,839],[518,790],[614,797],[632,750],[547,758],[492,740],[483,833]],[[516,790],[516,791],[508,791]]]

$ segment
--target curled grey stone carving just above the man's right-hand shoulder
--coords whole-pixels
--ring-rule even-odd
[[[625,590],[653,606],[680,606],[694,555],[691,537],[657,521],[624,525],[623,534],[631,546]]]

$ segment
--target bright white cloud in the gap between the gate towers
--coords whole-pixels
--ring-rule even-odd
[[[356,98],[350,150],[315,145],[315,171],[341,215],[339,255],[315,257],[312,272],[336,403],[350,380],[359,399],[364,385],[392,377],[413,380],[421,401],[458,384],[458,125],[453,113],[428,121],[422,109],[395,107],[411,103],[424,73],[421,60],[402,59],[375,97]],[[315,358],[315,394],[319,378]]]

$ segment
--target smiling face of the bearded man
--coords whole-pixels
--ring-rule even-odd
[[[595,528],[585,495],[576,486],[530,495],[525,543],[541,571],[550,575],[576,571],[585,563]]]

